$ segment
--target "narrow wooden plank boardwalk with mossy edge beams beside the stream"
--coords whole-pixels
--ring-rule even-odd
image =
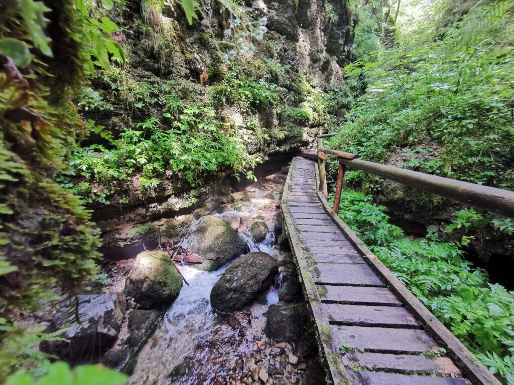
[[[293,159],[281,206],[334,383],[499,384],[334,215],[317,174]]]

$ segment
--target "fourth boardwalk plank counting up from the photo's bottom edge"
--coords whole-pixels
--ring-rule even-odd
[[[325,310],[332,323],[354,326],[382,326],[384,328],[418,328],[412,314],[405,307],[364,306],[326,303]]]

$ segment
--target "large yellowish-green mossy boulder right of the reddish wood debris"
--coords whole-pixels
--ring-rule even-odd
[[[246,242],[222,219],[208,215],[195,223],[187,237],[187,247],[205,258],[194,267],[208,272],[245,253]]]

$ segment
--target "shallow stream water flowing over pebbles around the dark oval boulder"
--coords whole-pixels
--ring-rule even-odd
[[[248,242],[250,252],[273,255],[282,265],[288,253],[278,247],[273,228],[284,179],[280,174],[262,178],[233,194],[234,202],[216,214],[229,223],[242,224],[245,230],[239,234]],[[261,243],[255,243],[247,230],[256,218],[264,219],[270,228]],[[261,303],[255,301],[230,316],[212,310],[211,288],[231,263],[215,272],[180,267],[189,286],[182,287],[154,336],[140,351],[130,384],[264,383],[268,374],[266,383],[312,383],[306,382],[307,368],[319,366],[316,348],[305,339],[274,343],[264,333],[265,313],[270,304],[279,301],[280,274]],[[298,362],[288,362],[289,353],[298,357]]]

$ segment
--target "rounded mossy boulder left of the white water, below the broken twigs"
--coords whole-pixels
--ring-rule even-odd
[[[134,297],[141,309],[164,309],[180,293],[182,278],[162,252],[140,253],[125,283],[125,293]]]

